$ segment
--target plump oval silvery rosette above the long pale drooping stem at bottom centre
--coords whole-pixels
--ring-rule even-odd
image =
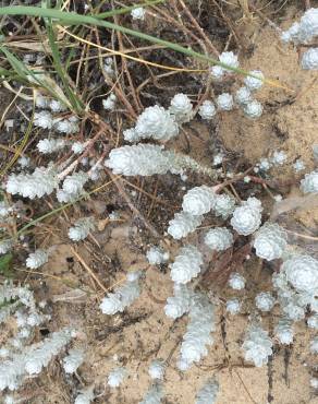
[[[203,256],[194,246],[182,247],[172,264],[171,278],[179,284],[186,284],[200,272],[200,265],[204,263]]]

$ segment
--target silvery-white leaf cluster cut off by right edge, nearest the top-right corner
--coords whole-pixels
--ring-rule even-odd
[[[318,35],[318,9],[308,9],[299,22],[295,22],[288,31],[281,35],[285,43],[307,44]]]

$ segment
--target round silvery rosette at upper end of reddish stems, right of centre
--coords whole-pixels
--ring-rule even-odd
[[[248,198],[234,210],[231,225],[238,235],[252,235],[260,226],[261,211],[261,202],[256,198]]]

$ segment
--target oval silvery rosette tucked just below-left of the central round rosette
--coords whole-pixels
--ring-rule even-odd
[[[167,231],[175,240],[180,240],[194,231],[203,223],[203,215],[195,216],[182,211],[180,213],[175,213],[173,219],[169,222]]]

